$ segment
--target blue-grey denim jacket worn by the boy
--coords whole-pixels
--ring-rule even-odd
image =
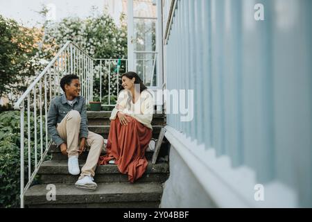
[[[57,146],[64,143],[64,140],[58,134],[58,130],[56,130],[57,123],[60,123],[71,110],[76,110],[80,113],[81,123],[79,138],[88,137],[87,107],[85,104],[85,98],[83,96],[77,96],[73,100],[73,106],[71,106],[67,103],[65,94],[62,94],[51,101],[48,112],[48,132]]]

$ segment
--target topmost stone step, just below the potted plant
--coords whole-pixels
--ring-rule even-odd
[[[110,111],[91,112],[87,111],[88,124],[93,126],[110,126]],[[153,114],[152,126],[165,126],[166,116],[164,114]]]

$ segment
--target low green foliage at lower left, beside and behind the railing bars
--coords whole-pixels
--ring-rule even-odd
[[[27,113],[25,113],[25,120]],[[39,124],[39,118],[37,118]],[[37,125],[39,126],[39,125]],[[44,126],[44,124],[43,124]],[[28,176],[28,134],[25,125],[25,177]],[[37,129],[37,131],[39,131]],[[31,113],[31,171],[35,164],[34,119]],[[0,207],[19,207],[20,192],[20,114],[19,111],[0,113]],[[40,135],[37,136],[40,144]],[[45,149],[45,145],[44,145]],[[37,160],[40,160],[40,147],[37,148]],[[35,178],[34,182],[37,182]],[[25,180],[27,182],[27,180]]]

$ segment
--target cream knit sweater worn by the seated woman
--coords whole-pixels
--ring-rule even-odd
[[[154,112],[154,100],[152,94],[147,89],[141,92],[140,98],[136,103],[132,102],[132,96],[129,92],[126,90],[121,91],[117,99],[117,105],[120,107],[119,109],[115,107],[112,110],[110,120],[116,119],[116,115],[120,111],[137,119],[144,126],[153,130],[151,122]]]

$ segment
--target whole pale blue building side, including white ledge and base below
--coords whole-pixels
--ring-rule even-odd
[[[162,207],[312,207],[312,2],[162,3],[166,89],[193,90]]]

